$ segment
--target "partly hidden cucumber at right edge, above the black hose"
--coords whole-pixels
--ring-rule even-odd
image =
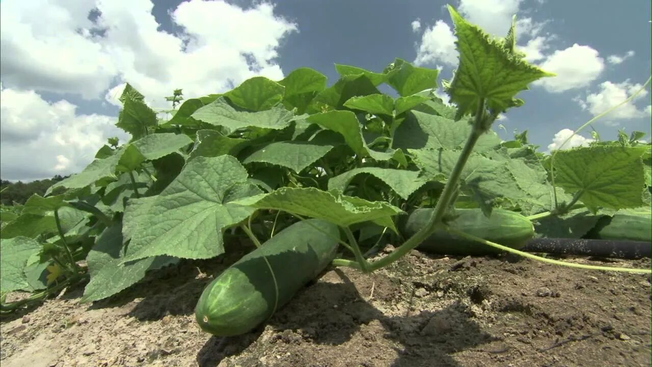
[[[628,240],[651,242],[652,227],[649,210],[623,210],[610,217],[605,215],[584,238],[595,240]]]

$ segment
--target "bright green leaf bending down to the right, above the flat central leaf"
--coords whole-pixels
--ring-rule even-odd
[[[364,138],[360,130],[360,123],[351,111],[329,111],[321,114],[314,114],[306,119],[310,123],[316,123],[324,129],[329,129],[344,136],[346,144],[355,154],[366,157],[368,152],[364,144]]]

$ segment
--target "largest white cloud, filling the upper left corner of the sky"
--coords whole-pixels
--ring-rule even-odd
[[[297,25],[273,5],[244,10],[226,1],[190,0],[170,10],[183,32],[159,30],[150,0],[0,3],[1,74],[6,86],[98,99],[129,82],[154,107],[183,88],[196,97],[256,75],[283,78],[276,49]],[[99,16],[93,22],[87,14]]]

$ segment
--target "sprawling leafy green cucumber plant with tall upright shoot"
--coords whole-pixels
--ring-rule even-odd
[[[524,103],[516,95],[529,83],[554,74],[516,50],[515,19],[507,37],[492,39],[449,12],[460,64],[441,86],[452,104],[434,95],[436,69],[402,59],[381,72],[335,65],[332,86],[301,68],[198,98],[176,89],[166,119],[127,84],[116,125],[132,138],[110,139],[44,197],[3,209],[1,311],[80,281],[83,302],[107,298],[149,270],[217,257],[225,242],[242,238],[259,248],[198,303],[198,323],[209,332],[237,334],[264,321],[327,263],[373,272],[430,236],[459,253],[490,246],[650,273],[518,250],[532,236],[606,235],[599,219],[623,212],[649,224],[651,145],[635,132],[546,155],[527,132],[502,141],[492,130],[497,116]],[[398,97],[381,93],[381,84]],[[401,245],[370,261],[387,242]],[[335,258],[340,245],[348,255]],[[289,279],[282,264],[306,256],[309,268]],[[239,289],[243,274],[267,283],[225,304],[256,311],[241,324],[220,324],[229,310],[216,297]],[[5,302],[17,290],[33,295]]]

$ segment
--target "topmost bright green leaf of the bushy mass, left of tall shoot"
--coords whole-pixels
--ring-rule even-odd
[[[389,76],[387,84],[396,89],[401,97],[413,95],[425,89],[437,88],[437,69],[414,67],[402,59],[394,61],[394,72]]]

